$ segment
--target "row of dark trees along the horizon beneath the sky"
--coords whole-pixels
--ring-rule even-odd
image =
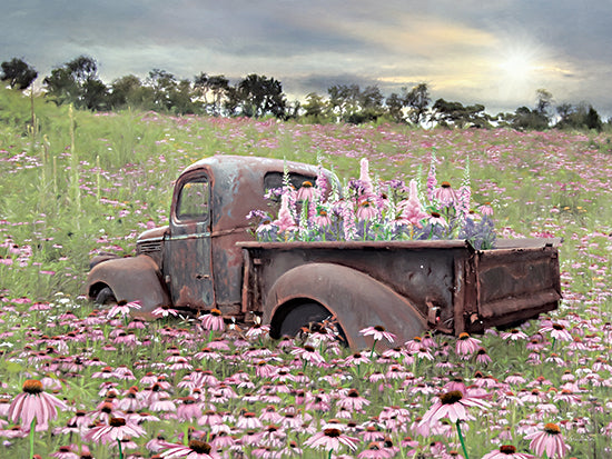
[[[37,70],[23,59],[12,58],[1,63],[0,80],[13,89],[24,90],[37,78]],[[302,102],[288,102],[280,81],[255,73],[230,84],[223,74],[201,72],[188,80],[152,69],[145,79],[128,74],[105,84],[98,77],[98,63],[87,56],[53,68],[42,79],[42,87],[45,97],[58,106],[72,103],[78,109],[93,111],[132,108],[176,114],[275,117],[312,123],[393,121],[448,128],[602,130],[604,127],[591,104],[554,106],[552,94],[545,89],[536,91],[535,107],[519,107],[514,112],[495,116],[486,113],[480,103],[432,101],[426,83],[403,88],[399,93],[387,97],[375,84],[363,89],[358,84],[335,84],[327,89],[327,96],[312,92]],[[611,122],[608,120],[605,124]]]

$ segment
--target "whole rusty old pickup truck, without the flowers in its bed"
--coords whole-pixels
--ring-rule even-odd
[[[464,240],[256,241],[246,216],[267,206],[266,190],[287,170],[296,188],[318,173],[237,156],[189,166],[176,181],[169,224],[140,235],[135,257],[93,259],[88,297],[138,300],[142,316],[170,306],[216,308],[247,323],[258,317],[273,338],[333,318],[356,349],[372,345],[359,333],[366,327],[382,326],[403,342],[427,329],[482,332],[557,307],[559,240],[499,240],[491,250]]]

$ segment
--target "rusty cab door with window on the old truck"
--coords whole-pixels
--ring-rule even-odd
[[[181,178],[170,216],[166,280],[175,306],[210,309],[210,180],[203,171]],[[169,279],[168,279],[169,277]]]

